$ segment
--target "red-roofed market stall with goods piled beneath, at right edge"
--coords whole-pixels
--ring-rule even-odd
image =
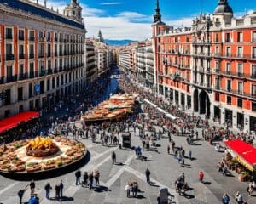
[[[255,178],[256,149],[241,139],[225,141],[227,166],[239,174],[240,180]]]

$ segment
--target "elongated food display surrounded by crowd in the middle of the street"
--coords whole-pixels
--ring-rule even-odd
[[[138,94],[117,94],[87,112],[82,119],[85,122],[119,119],[131,112]]]

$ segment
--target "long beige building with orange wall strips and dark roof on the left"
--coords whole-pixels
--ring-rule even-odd
[[[64,14],[25,0],[0,2],[0,117],[52,105],[84,88],[79,3]]]

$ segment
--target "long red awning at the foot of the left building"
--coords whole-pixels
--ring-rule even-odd
[[[27,122],[39,116],[39,112],[25,111],[15,116],[9,116],[0,121],[0,133],[3,133],[11,128],[17,127],[20,122]]]

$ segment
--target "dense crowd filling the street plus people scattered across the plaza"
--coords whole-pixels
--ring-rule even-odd
[[[183,111],[180,107],[172,105],[166,99],[155,95],[151,90],[138,87],[135,83],[131,82],[130,78],[125,75],[121,75],[119,78],[119,88],[116,89],[117,93],[137,93],[139,94],[139,100],[143,101],[148,99],[161,109],[176,116],[176,120],[172,120],[167,117],[164,113],[157,111],[152,105],[144,103],[143,113],[137,109],[132,114],[128,114],[123,120],[119,122],[102,122],[101,124],[85,124],[80,121],[81,114],[86,111],[90,111],[97,105],[103,98],[102,95],[108,84],[108,77],[102,78],[96,84],[93,84],[86,88],[84,92],[79,94],[73,94],[70,97],[62,99],[58,105],[50,106],[46,111],[40,111],[41,117],[35,119],[32,122],[26,123],[26,126],[15,128],[10,130],[6,134],[0,136],[0,142],[6,144],[14,140],[28,139],[40,135],[47,134],[60,134],[68,136],[70,133],[73,135],[73,139],[92,139],[93,142],[100,140],[102,145],[115,146],[119,145],[119,133],[125,131],[134,133],[138,130],[138,136],[140,137],[143,145],[143,149],[149,150],[150,147],[155,146],[155,140],[163,137],[165,133],[168,134],[169,142],[168,153],[172,148],[174,157],[181,164],[185,164],[185,150],[182,146],[177,146],[175,141],[171,139],[172,134],[178,134],[180,132],[195,134],[198,137],[198,133],[195,132],[195,127],[203,128],[203,137],[206,140],[217,140],[217,139],[234,139],[241,138],[248,143],[252,142],[252,137],[247,133],[233,133],[230,129],[224,127],[212,127],[207,119],[202,119],[200,116],[189,115]],[[50,114],[49,114],[50,113]],[[52,114],[54,113],[54,114]],[[76,122],[81,122],[77,127]],[[25,128],[26,127],[26,128]],[[156,127],[160,127],[158,130]],[[11,135],[11,137],[9,137]],[[138,146],[135,148],[136,155],[142,156],[142,150]],[[192,159],[192,151],[189,150],[189,159]],[[116,163],[116,155],[112,154],[113,164]],[[147,169],[145,172],[147,183],[150,182],[150,171]],[[89,187],[90,190],[96,188],[99,185],[100,173],[96,169],[90,174],[84,172],[82,175],[81,171],[75,173],[76,185],[82,184],[85,187]],[[81,182],[83,178],[83,182]],[[201,176],[199,175],[201,179]],[[201,179],[202,181],[202,179]],[[35,194],[35,183],[34,181],[30,184],[31,188],[31,200],[38,200],[38,196]],[[64,184],[62,181],[55,184],[55,199],[61,200],[63,197]],[[184,174],[177,178],[176,189],[179,194],[188,188],[188,184],[185,182]],[[48,183],[45,185],[46,198],[50,198],[51,185]],[[125,186],[127,191],[127,197],[137,197],[138,184],[136,181],[128,182]],[[23,194],[26,188],[22,190]],[[20,193],[21,191],[19,191]],[[23,196],[22,194],[22,196]],[[19,195],[19,194],[18,194]],[[21,195],[21,193],[20,193]],[[19,197],[20,197],[19,195]],[[22,200],[20,199],[20,203]],[[223,197],[224,203],[229,203],[227,198],[229,195],[225,194]],[[241,200],[240,196],[237,195],[237,200]],[[239,203],[239,202],[238,202]],[[241,202],[242,203],[242,202]],[[244,203],[244,202],[243,202]]]

